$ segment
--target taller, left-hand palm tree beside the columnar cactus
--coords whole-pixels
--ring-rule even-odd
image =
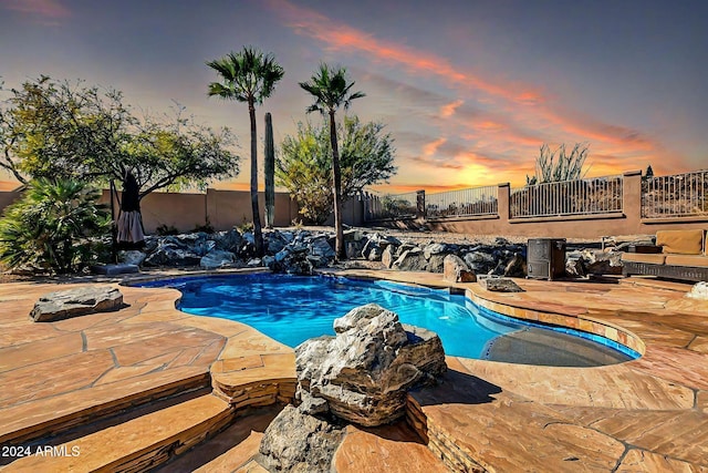
[[[256,143],[256,104],[263,103],[275,89],[275,83],[285,73],[271,53],[244,47],[239,52],[231,51],[221,59],[207,62],[221,76],[221,82],[209,84],[209,96],[248,103],[251,119],[251,210],[253,213],[253,239],[257,256],[263,256],[263,234],[258,208],[258,148]]]

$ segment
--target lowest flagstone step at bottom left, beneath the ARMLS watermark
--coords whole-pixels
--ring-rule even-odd
[[[31,456],[15,460],[6,471],[146,471],[220,432],[233,415],[227,402],[206,394],[62,444],[32,446]]]

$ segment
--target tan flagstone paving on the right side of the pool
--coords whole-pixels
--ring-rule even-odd
[[[447,286],[439,275],[386,276]],[[708,471],[708,353],[696,343],[708,304],[686,299],[688,285],[633,281],[519,280],[525,292],[511,295],[454,285],[502,313],[639,340],[644,357],[597,368],[449,357],[439,387],[412,393],[412,423],[448,464],[472,471]]]

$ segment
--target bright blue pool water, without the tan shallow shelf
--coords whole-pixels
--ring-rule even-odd
[[[458,357],[488,358],[491,342],[524,333],[529,327],[493,317],[493,312],[480,310],[466,297],[447,290],[389,281],[252,274],[159,280],[142,286],[179,289],[180,310],[237,320],[290,347],[309,338],[334,335],[335,318],[369,302],[396,312],[403,323],[435,331],[445,352]],[[529,340],[523,343],[529,345]]]

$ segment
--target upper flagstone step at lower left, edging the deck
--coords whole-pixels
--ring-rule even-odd
[[[17,446],[61,435],[125,410],[209,388],[210,382],[208,368],[180,367],[12,405],[0,410],[0,444]]]

